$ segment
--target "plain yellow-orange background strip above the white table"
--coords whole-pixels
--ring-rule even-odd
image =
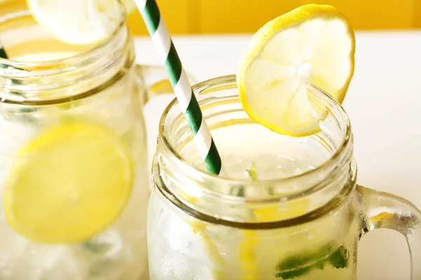
[[[327,3],[342,11],[356,30],[421,27],[421,0],[156,0],[172,34],[255,33],[262,25],[305,3]],[[136,11],[134,34],[147,34]]]

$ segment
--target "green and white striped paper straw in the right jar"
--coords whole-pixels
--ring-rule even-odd
[[[149,34],[158,52],[159,58],[168,73],[171,85],[173,85],[175,97],[184,113],[194,141],[199,149],[208,172],[213,174],[225,174],[222,167],[220,154],[216,149],[215,142],[205,118],[203,118],[199,103],[192,90],[180,58],[174,48],[170,33],[163,21],[158,5],[155,0],[135,0],[136,6],[145,21]]]

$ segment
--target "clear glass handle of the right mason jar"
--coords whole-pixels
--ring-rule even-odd
[[[363,207],[363,233],[377,228],[396,230],[406,237],[411,280],[421,280],[421,211],[402,197],[357,186]]]

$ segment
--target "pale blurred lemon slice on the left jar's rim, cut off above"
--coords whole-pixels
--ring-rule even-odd
[[[133,0],[122,2],[128,13],[136,8]],[[74,45],[105,40],[121,20],[117,0],[27,0],[27,5],[39,24]]]

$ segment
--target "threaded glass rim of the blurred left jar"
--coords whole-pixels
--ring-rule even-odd
[[[126,8],[121,1],[118,2],[119,23],[108,38],[92,48],[62,59],[41,62],[0,59],[0,102],[23,106],[74,102],[121,80],[127,69],[133,66],[135,55],[126,25]],[[25,8],[14,12],[16,18],[22,16],[22,10]],[[6,17],[11,18],[11,14]],[[39,94],[44,91],[48,94]]]

